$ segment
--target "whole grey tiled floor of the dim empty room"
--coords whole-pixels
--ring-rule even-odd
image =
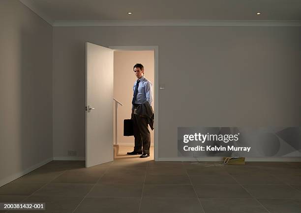
[[[301,213],[301,163],[214,164],[52,161],[0,187],[0,202],[46,203],[33,213]]]

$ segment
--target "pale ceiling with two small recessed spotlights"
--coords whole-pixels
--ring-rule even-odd
[[[143,20],[301,20],[301,0],[20,0],[49,23]],[[128,15],[132,12],[132,15]],[[256,15],[261,12],[261,15]]]

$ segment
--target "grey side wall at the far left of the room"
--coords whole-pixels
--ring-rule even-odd
[[[52,158],[52,27],[0,1],[0,186]]]

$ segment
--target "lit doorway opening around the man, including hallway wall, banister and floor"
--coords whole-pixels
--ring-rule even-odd
[[[137,80],[133,66],[144,66],[144,77],[152,84],[152,108],[154,107],[154,51],[114,51],[114,160],[154,160],[154,131],[151,131],[150,157],[141,159],[140,155],[126,155],[133,151],[134,136],[123,136],[123,120],[131,117],[133,84]],[[122,105],[121,105],[122,104]],[[117,107],[117,110],[116,110]],[[118,116],[116,116],[118,115]],[[117,119],[116,119],[117,118]],[[116,127],[116,124],[118,126]],[[117,145],[118,144],[118,145]]]

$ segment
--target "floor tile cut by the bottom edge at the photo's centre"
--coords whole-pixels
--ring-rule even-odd
[[[204,213],[196,198],[142,198],[140,213]]]

